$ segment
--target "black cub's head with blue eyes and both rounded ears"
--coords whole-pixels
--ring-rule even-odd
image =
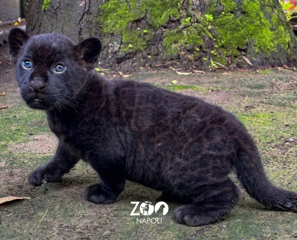
[[[44,110],[71,105],[101,52],[97,37],[75,45],[58,33],[30,38],[20,28],[11,29],[8,44],[23,99]]]

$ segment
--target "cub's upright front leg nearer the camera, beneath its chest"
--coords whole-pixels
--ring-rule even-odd
[[[93,203],[114,203],[124,190],[123,158],[104,159],[98,157],[89,161],[101,178],[101,183],[88,186],[84,191],[85,198]]]

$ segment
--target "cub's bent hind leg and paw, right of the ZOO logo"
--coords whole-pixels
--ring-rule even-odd
[[[189,196],[192,204],[174,210],[174,219],[189,226],[212,224],[229,212],[241,198],[238,187],[227,178],[216,184],[203,186],[196,195]]]

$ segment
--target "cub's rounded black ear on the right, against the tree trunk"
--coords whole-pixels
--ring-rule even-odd
[[[95,68],[101,48],[101,41],[98,37],[89,37],[77,45],[77,50],[87,64],[88,70]]]

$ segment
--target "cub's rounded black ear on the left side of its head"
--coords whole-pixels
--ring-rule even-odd
[[[22,46],[29,40],[29,36],[21,28],[12,28],[8,34],[8,45],[11,61],[15,64],[22,51]]]

